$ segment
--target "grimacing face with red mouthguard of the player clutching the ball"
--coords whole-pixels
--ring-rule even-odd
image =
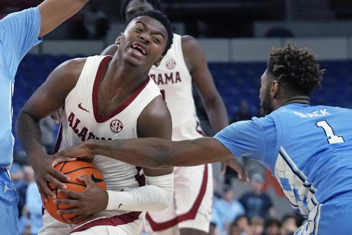
[[[132,20],[116,44],[118,53],[128,64],[150,69],[153,65],[159,66],[167,40],[167,31],[158,20],[140,16]]]

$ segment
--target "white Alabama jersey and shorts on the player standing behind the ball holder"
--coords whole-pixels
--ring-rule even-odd
[[[192,94],[192,77],[182,52],[182,37],[174,41],[158,67],[153,66],[150,77],[170,110],[172,140],[195,139],[205,136],[196,116]],[[213,197],[212,165],[174,167],[174,198],[162,211],[148,212],[146,231],[153,235],[178,235],[180,228],[208,232]]]

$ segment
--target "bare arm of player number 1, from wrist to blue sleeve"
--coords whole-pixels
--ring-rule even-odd
[[[214,163],[232,156],[232,153],[218,140],[209,137],[193,140],[169,141],[158,138],[137,138],[126,140],[88,140],[88,155],[103,155],[122,162],[152,169],[168,167],[190,167]],[[68,152],[69,149],[68,149]],[[64,156],[84,157],[75,154]]]

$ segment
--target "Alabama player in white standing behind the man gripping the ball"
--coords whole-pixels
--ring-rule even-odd
[[[124,0],[121,18],[128,20],[143,10],[162,11],[159,0]],[[118,45],[101,55],[113,55]],[[196,115],[192,85],[199,91],[214,132],[228,125],[224,102],[215,88],[212,75],[199,43],[191,36],[174,34],[174,43],[159,67],[149,75],[161,90],[172,118],[172,140],[205,136]],[[155,235],[205,235],[209,232],[212,211],[212,165],[174,168],[174,198],[163,211],[148,212],[146,231]],[[245,179],[246,177],[244,177]]]

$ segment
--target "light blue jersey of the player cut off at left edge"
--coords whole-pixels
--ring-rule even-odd
[[[12,13],[0,20],[0,168],[9,168],[12,163],[14,77],[23,56],[41,42],[39,31],[39,7]]]

